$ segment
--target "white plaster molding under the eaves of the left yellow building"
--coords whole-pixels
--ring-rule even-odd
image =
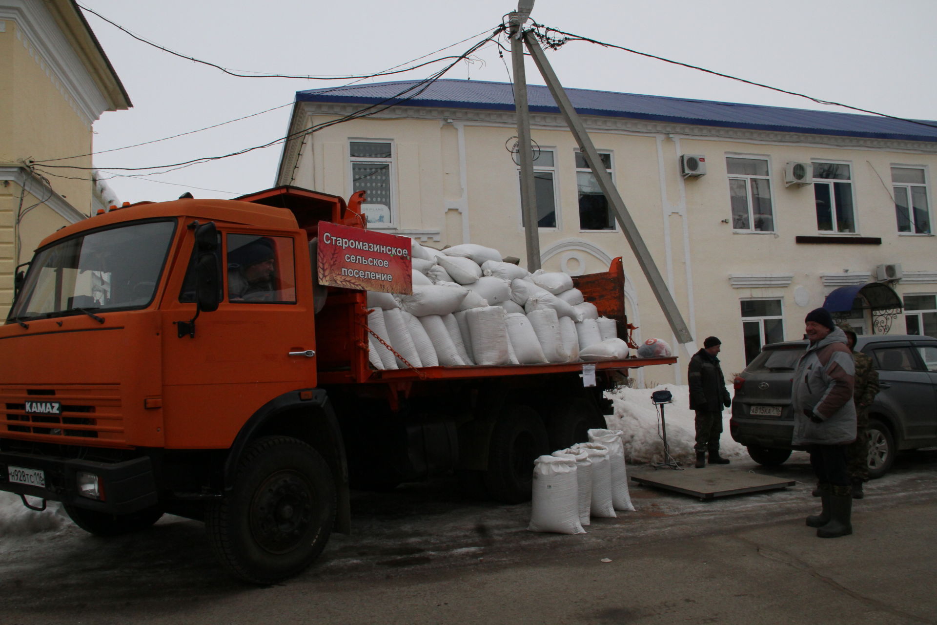
[[[0,20],[16,22],[16,37],[85,126],[90,128],[102,112],[110,109],[107,97],[98,89],[45,3],[0,0]]]

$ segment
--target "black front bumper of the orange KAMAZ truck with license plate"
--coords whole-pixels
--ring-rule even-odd
[[[101,499],[80,494],[80,473],[97,476]],[[158,501],[153,463],[148,456],[107,463],[0,452],[0,490],[112,514],[134,513]]]

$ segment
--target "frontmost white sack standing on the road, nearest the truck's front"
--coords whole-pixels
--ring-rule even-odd
[[[572,456],[542,455],[533,461],[530,531],[585,534],[579,522],[576,461]]]

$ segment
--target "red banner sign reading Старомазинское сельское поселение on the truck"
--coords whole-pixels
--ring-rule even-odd
[[[410,239],[385,232],[319,224],[319,282],[332,287],[413,292]]]

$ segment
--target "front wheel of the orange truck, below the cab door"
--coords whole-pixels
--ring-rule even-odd
[[[335,482],[299,439],[264,437],[245,450],[231,490],[208,506],[205,527],[229,573],[273,584],[319,557],[335,524]]]

